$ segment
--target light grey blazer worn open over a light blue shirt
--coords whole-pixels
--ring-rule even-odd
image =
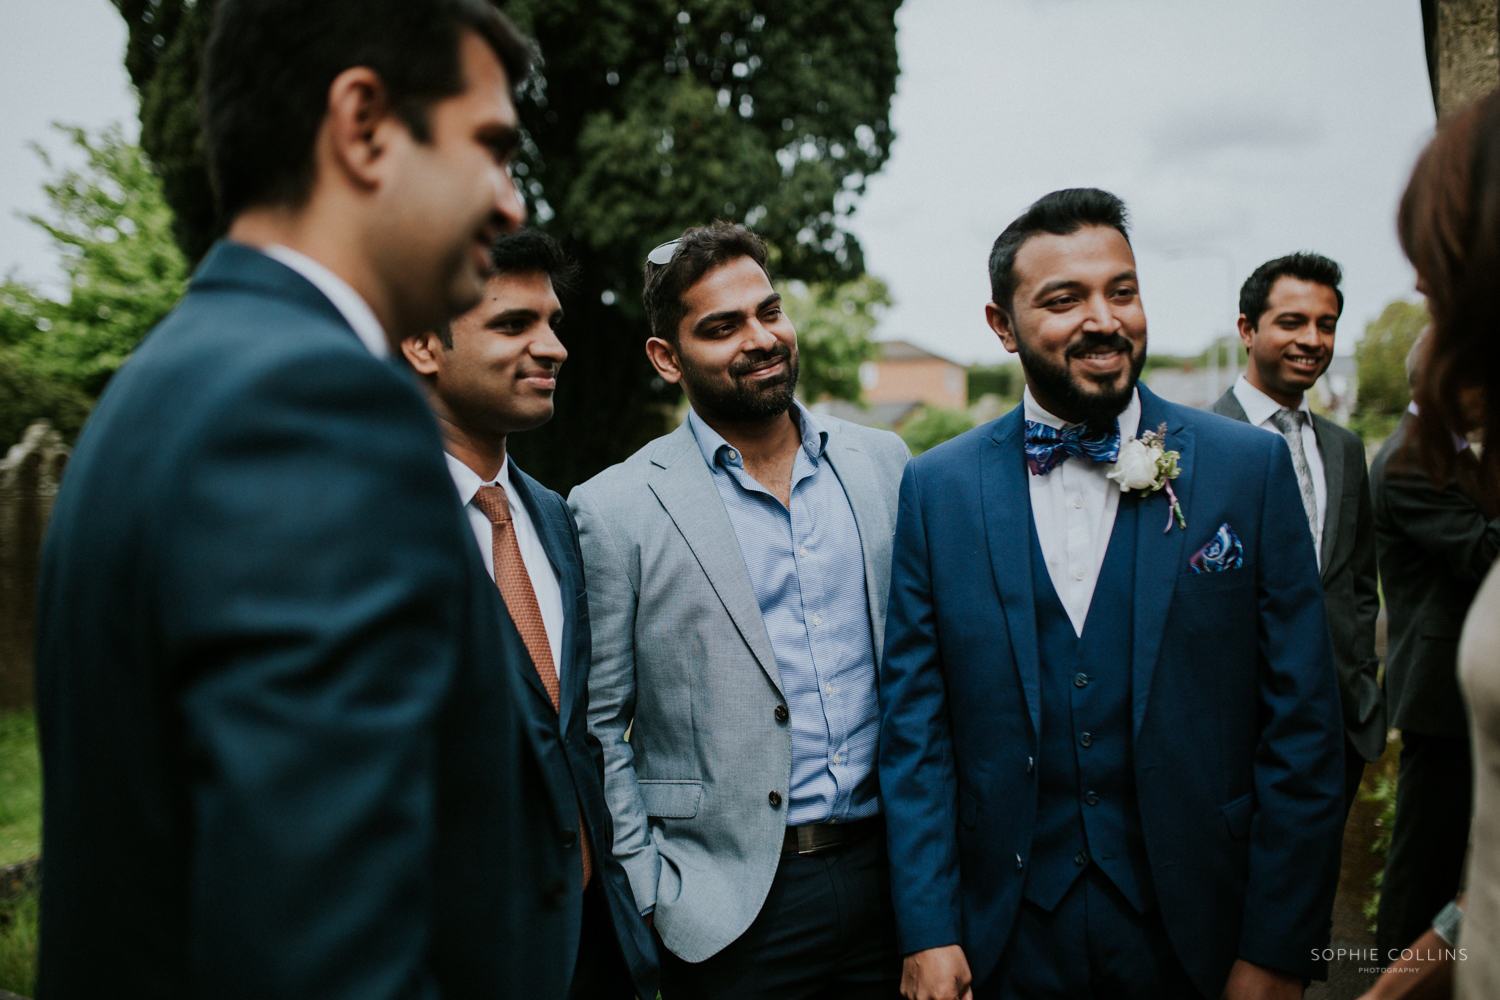
[[[818,421],[860,528],[879,655],[910,453],[886,430]],[[687,423],[578,486],[568,504],[594,639],[588,723],[604,747],[615,856],[640,909],[656,907],[666,946],[704,961],[750,927],[782,859],[792,738],[776,715],[786,705],[776,654]]]

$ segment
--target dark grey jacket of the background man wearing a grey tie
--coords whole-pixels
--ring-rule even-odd
[[[1220,396],[1214,412],[1250,423],[1234,390]],[[1334,633],[1344,735],[1360,757],[1380,760],[1386,750],[1386,697],[1376,678],[1380,667],[1380,658],[1376,657],[1380,591],[1365,442],[1353,430],[1317,414],[1312,414],[1312,433],[1323,453],[1323,480],[1328,486],[1318,561],[1328,627]]]

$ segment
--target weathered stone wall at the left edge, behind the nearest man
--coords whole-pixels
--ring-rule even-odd
[[[0,711],[32,705],[36,571],[68,454],[44,420],[0,462]]]

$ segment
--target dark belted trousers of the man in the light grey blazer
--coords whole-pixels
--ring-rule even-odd
[[[662,1000],[898,1000],[902,958],[880,831],[784,855],[750,928],[706,961],[657,942]]]

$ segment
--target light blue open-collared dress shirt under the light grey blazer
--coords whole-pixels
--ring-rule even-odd
[[[740,453],[693,411],[687,420],[724,501],[776,651],[792,727],[789,826],[880,811],[880,732],[864,549],[854,508],[826,460],[828,432],[801,403],[802,447],[783,507]]]

